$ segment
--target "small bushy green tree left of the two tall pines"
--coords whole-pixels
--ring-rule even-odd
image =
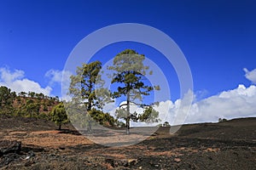
[[[59,126],[59,130],[61,130],[62,124],[69,122],[64,104],[62,102],[59,105],[55,105],[53,110],[50,111],[49,115],[51,116],[51,121],[55,122],[55,124]]]

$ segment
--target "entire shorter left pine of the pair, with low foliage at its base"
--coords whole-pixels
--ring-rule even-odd
[[[96,122],[113,126],[113,116],[105,114],[102,107],[112,101],[107,88],[102,88],[104,82],[100,71],[102,63],[95,61],[90,64],[83,64],[77,68],[77,75],[71,76],[69,94],[72,95],[72,102],[69,102],[69,118],[75,126],[84,128],[91,132],[91,126]]]

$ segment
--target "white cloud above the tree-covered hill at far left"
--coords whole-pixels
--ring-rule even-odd
[[[49,95],[52,88],[42,88],[38,82],[25,78],[25,72],[20,70],[10,71],[8,68],[0,68],[0,85],[11,88],[16,93],[33,91]]]

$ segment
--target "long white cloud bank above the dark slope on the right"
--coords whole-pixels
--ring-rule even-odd
[[[195,103],[189,105],[193,99]],[[196,122],[218,122],[218,118],[232,119],[237,117],[256,116],[256,86],[238,88],[224,91],[207,99],[197,101],[195,94],[189,91],[183,99],[161,101],[154,106],[160,113],[161,123],[169,122],[171,125]],[[182,105],[181,105],[182,104]],[[132,110],[137,108],[132,105]],[[190,108],[190,110],[189,110]],[[189,112],[188,112],[189,111]],[[114,112],[114,111],[112,111]],[[158,123],[154,123],[156,125]],[[132,126],[142,126],[145,123],[131,123]]]

